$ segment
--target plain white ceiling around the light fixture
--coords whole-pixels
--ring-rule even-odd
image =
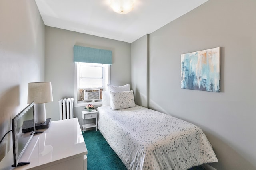
[[[208,0],[134,0],[134,9],[118,14],[110,0],[35,0],[50,27],[132,43]]]

